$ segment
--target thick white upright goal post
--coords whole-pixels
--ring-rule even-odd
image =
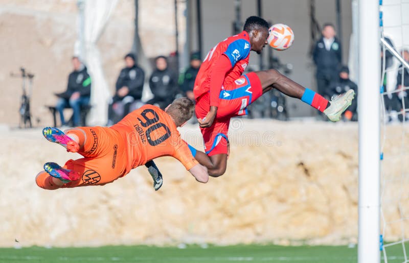
[[[358,262],[380,262],[379,1],[358,2]]]

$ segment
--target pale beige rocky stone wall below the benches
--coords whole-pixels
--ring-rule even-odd
[[[238,119],[231,127],[225,175],[201,184],[163,157],[158,192],[144,167],[105,186],[41,189],[34,178],[44,162],[80,156],[39,129],[0,132],[0,246],[356,241],[356,125]],[[196,126],[182,134],[201,148]]]

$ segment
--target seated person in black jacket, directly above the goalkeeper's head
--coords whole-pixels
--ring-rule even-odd
[[[168,60],[164,56],[155,58],[155,69],[149,79],[149,87],[153,94],[153,99],[147,104],[156,104],[161,109],[165,109],[174,100],[177,92],[177,79],[168,67]]]

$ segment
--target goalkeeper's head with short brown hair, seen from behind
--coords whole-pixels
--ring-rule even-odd
[[[193,116],[195,111],[195,104],[192,100],[186,97],[178,98],[172,102],[166,109],[168,113],[175,121],[176,127],[183,125]]]

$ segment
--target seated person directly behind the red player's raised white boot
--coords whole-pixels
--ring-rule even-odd
[[[353,89],[356,94],[355,96],[357,96],[358,87],[352,80],[349,79],[349,68],[347,66],[342,66],[341,70],[339,71],[338,80],[330,83],[327,89],[327,95],[329,98],[331,98],[332,96],[342,94],[350,89]],[[355,122],[358,120],[356,112],[357,101],[357,97],[352,100],[351,106],[349,106],[343,114],[344,119]]]

